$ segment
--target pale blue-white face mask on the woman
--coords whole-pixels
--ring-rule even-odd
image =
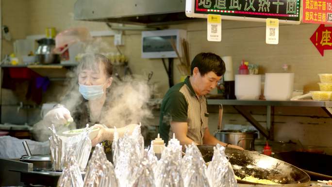
[[[102,85],[81,85],[79,84],[79,91],[83,98],[86,100],[99,99],[104,94],[104,89]]]

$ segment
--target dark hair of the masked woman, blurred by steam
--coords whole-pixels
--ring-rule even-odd
[[[84,54],[80,60],[77,69],[78,72],[81,72],[83,69],[92,69],[96,72],[99,72],[100,65],[104,67],[106,76],[112,77],[113,65],[108,60],[108,58],[102,54],[97,54],[97,53]]]

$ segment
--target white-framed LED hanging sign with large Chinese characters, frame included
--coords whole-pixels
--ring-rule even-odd
[[[206,18],[208,14],[222,19],[264,21],[279,19],[299,24],[301,0],[186,0],[186,16]]]

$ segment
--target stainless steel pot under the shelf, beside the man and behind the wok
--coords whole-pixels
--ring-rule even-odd
[[[257,137],[256,131],[234,131],[234,130],[222,130],[216,131],[214,136],[225,143],[238,145],[245,150],[254,150],[254,141]]]

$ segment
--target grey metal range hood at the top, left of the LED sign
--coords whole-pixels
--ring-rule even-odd
[[[135,25],[166,25],[193,20],[185,16],[185,0],[77,0],[74,18]]]

